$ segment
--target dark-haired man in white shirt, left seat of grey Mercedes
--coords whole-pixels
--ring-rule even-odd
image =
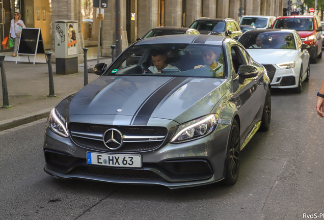
[[[179,70],[177,67],[172,66],[171,64],[167,64],[167,54],[161,50],[153,50],[151,52],[152,61],[154,66],[150,66],[148,69],[152,73],[161,73],[163,69],[175,69]],[[180,71],[180,70],[179,70]]]

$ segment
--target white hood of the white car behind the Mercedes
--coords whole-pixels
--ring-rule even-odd
[[[247,49],[253,60],[260,64],[278,64],[291,61],[297,50],[292,49]]]

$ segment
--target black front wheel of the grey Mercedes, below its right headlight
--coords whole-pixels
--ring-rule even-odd
[[[239,127],[234,119],[228,140],[225,160],[225,179],[222,181],[224,185],[234,185],[239,171],[239,155],[241,152]]]

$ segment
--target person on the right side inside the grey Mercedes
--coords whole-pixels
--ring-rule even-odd
[[[223,76],[224,66],[221,63],[216,62],[217,54],[210,48],[202,49],[202,57],[204,60],[204,65],[195,66],[194,69],[201,67],[210,68],[213,72],[213,76]]]

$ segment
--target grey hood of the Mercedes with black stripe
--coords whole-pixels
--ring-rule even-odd
[[[228,89],[226,79],[100,76],[58,106],[68,115],[133,116],[130,124],[150,117],[183,123],[210,114]]]

